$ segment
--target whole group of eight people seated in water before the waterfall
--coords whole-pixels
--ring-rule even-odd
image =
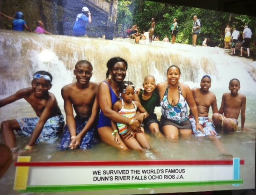
[[[121,151],[132,149],[143,153],[152,149],[146,133],[172,141],[194,134],[210,137],[220,152],[225,153],[216,137],[218,130],[234,132],[240,112],[241,129],[244,129],[246,97],[238,93],[238,79],[230,81],[230,93],[223,94],[218,111],[216,97],[209,91],[209,75],[203,76],[200,88],[191,90],[179,81],[180,68],[171,65],[167,70],[167,81],[156,84],[154,76],[148,75],[143,81],[143,89],[135,90],[131,81],[124,81],[127,69],[128,64],[123,58],[111,58],[107,62],[106,80],[97,84],[90,81],[91,63],[87,60],[77,62],[73,71],[76,81],[61,89],[65,127],[56,97],[49,92],[51,74],[36,72],[31,87],[0,100],[1,108],[25,99],[37,115],[1,122],[4,143],[14,149],[16,131],[20,136],[31,137],[25,150],[33,149],[37,142],[55,141],[61,137],[60,150],[90,149],[100,138]],[[160,122],[154,113],[157,106],[161,106]],[[210,107],[212,120],[208,116]]]

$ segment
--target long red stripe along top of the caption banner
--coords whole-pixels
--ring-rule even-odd
[[[233,165],[233,160],[155,160],[155,161],[74,161],[15,162],[15,166],[154,166],[154,165]],[[240,160],[244,165],[244,160]]]

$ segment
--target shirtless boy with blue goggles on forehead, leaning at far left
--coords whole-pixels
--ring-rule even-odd
[[[23,98],[29,102],[37,115],[33,118],[12,119],[1,123],[4,143],[11,149],[15,147],[16,141],[14,130],[20,136],[31,137],[25,150],[32,149],[36,142],[56,139],[62,133],[64,118],[55,96],[49,92],[51,81],[52,76],[49,72],[38,71],[33,76],[32,87],[23,88],[0,100],[0,107],[3,107]]]

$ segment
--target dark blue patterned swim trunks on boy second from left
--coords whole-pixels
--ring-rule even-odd
[[[88,122],[89,118],[82,118],[79,116],[75,116],[75,124],[76,124],[76,135],[78,135]],[[96,143],[98,143],[98,132],[95,130],[95,125],[93,125],[90,130],[87,131],[85,136],[82,138],[80,145],[78,148],[81,149],[90,149]],[[61,137],[61,141],[59,143],[60,150],[67,150],[70,149],[69,145],[71,143],[71,136],[67,125],[64,127],[64,133]]]

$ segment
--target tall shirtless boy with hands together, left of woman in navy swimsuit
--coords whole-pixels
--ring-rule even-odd
[[[61,89],[66,112],[66,125],[59,144],[64,149],[89,149],[98,142],[95,121],[99,111],[98,84],[91,82],[93,67],[87,60],[76,63],[76,82]],[[73,115],[73,109],[76,116]]]

